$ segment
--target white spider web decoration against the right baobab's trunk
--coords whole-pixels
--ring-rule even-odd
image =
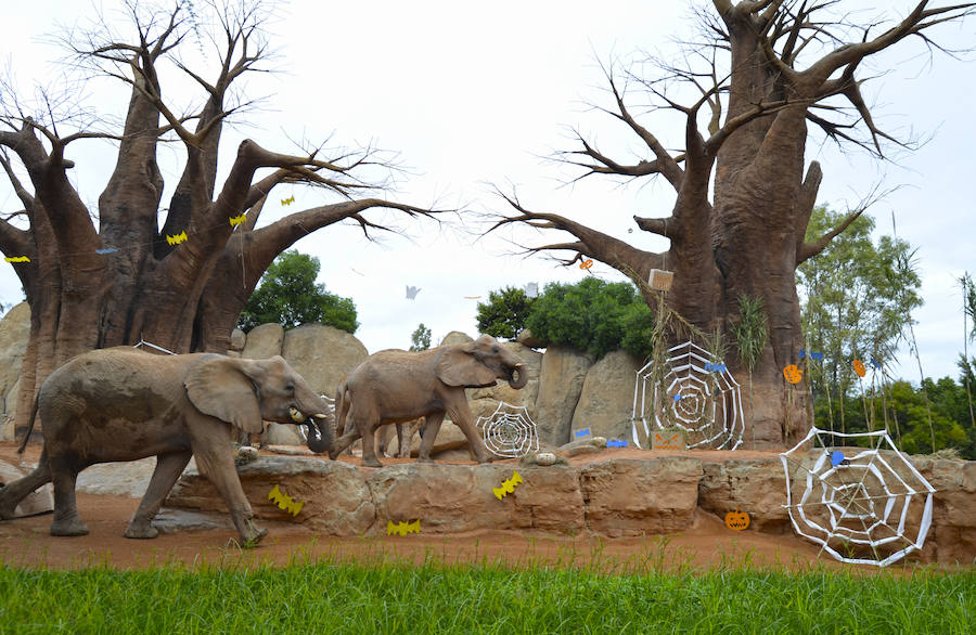
[[[657,429],[684,430],[688,448],[739,448],[745,430],[742,392],[725,364],[691,341],[668,349],[664,364],[663,374],[653,361],[637,372],[631,416],[634,444],[643,448],[643,439],[650,446],[648,419],[653,418]]]

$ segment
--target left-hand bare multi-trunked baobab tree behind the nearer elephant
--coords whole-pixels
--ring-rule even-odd
[[[264,271],[309,232],[343,220],[358,222],[368,236],[389,229],[362,216],[371,208],[434,213],[369,197],[388,185],[394,169],[370,147],[292,155],[245,140],[218,191],[224,125],[252,104],[237,87],[267,70],[270,51],[262,31],[268,8],[257,0],[231,4],[207,3],[204,16],[183,1],[165,10],[131,2],[128,36],[112,33],[107,22],[65,34],[75,68],[127,87],[120,129],[75,106],[74,94],[59,100],[42,92],[31,106],[2,91],[0,165],[23,209],[0,220],[0,250],[13,259],[31,312],[17,428],[50,372],[85,350],[145,340],[174,352],[226,351]],[[213,47],[210,73],[188,62],[207,59],[194,39],[201,50]],[[171,103],[162,77],[176,74],[198,87],[202,105],[184,111]],[[85,157],[73,151],[105,139],[117,142],[117,161],[89,207],[68,178],[73,157]],[[165,206],[157,164],[164,143],[181,147],[185,159]],[[265,200],[283,183],[323,187],[339,200],[256,229]]]

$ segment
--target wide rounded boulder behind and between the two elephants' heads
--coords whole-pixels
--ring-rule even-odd
[[[333,397],[339,379],[370,355],[351,333],[324,324],[305,324],[285,333],[283,357],[312,390]]]

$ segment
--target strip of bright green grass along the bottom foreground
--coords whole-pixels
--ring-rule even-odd
[[[0,633],[969,633],[976,573],[0,567]]]

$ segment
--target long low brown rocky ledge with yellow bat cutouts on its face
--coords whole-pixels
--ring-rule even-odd
[[[383,468],[304,456],[260,456],[240,467],[255,515],[301,523],[336,536],[378,534],[387,521],[420,519],[425,533],[483,529],[591,532],[609,537],[691,529],[695,509],[723,516],[736,508],[750,530],[791,533],[783,507],[783,467],[768,458],[673,455],[596,458],[577,465],[522,466],[408,463]],[[976,558],[976,462],[914,459],[937,490],[925,561],[969,565]],[[522,482],[499,498],[517,470]],[[297,515],[269,500],[274,488],[303,503]],[[500,492],[503,493],[503,492]],[[166,505],[226,510],[196,470],[184,472]]]

